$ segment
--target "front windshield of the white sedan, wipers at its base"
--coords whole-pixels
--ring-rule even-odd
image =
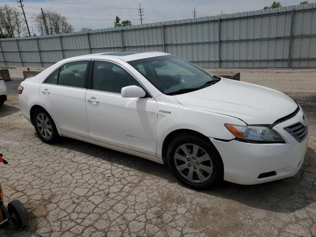
[[[198,90],[219,80],[216,76],[173,55],[144,58],[128,63],[167,95]]]

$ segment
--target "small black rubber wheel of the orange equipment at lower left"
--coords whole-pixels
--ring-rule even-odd
[[[28,213],[24,205],[19,200],[10,201],[8,204],[8,212],[13,223],[19,228],[25,227],[29,223]]]

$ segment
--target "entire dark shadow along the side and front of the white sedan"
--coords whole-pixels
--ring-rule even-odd
[[[170,183],[178,183],[168,167],[144,158],[127,155],[70,138],[63,138],[61,143],[55,144],[54,146],[107,160],[118,165],[157,176]],[[259,185],[238,185],[224,181],[212,190],[195,192],[231,199],[254,208],[289,213],[315,202],[315,167],[316,153],[309,147],[300,171],[293,177]],[[187,188],[180,183],[178,184]]]

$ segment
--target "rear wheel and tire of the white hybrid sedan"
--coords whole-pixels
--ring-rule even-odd
[[[56,143],[60,136],[54,120],[44,109],[37,109],[33,115],[33,124],[40,139],[48,144]]]

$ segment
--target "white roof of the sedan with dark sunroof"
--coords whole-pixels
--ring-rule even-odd
[[[163,55],[170,55],[169,53],[157,52],[157,51],[119,51],[119,52],[103,52],[103,53],[94,53],[81,55],[77,57],[67,58],[67,61],[71,60],[80,60],[80,59],[109,59],[119,58],[125,62],[143,59],[143,58],[152,58]],[[66,61],[65,60],[65,61]]]

